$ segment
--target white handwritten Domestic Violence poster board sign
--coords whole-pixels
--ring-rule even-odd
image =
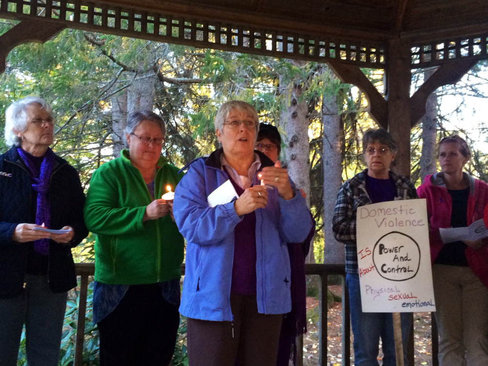
[[[358,207],[364,312],[435,311],[425,199]]]

